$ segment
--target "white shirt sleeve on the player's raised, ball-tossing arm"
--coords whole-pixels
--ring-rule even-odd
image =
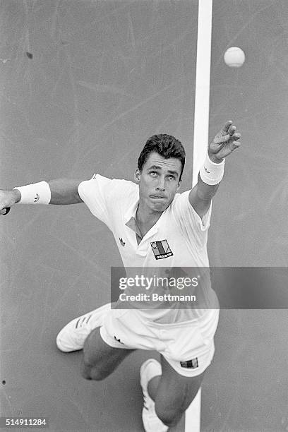
[[[179,222],[181,230],[189,239],[197,241],[198,246],[207,243],[208,228],[210,227],[211,205],[208,212],[201,218],[189,203],[189,193],[179,193],[174,198],[174,217]]]

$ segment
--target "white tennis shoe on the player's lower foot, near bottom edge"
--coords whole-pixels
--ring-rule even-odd
[[[155,376],[162,375],[162,368],[159,361],[148,359],[140,367],[140,384],[143,392],[142,421],[145,432],[166,432],[166,426],[155,412],[155,402],[149,396],[148,383]]]

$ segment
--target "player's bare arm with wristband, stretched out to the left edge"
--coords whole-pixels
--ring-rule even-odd
[[[5,215],[7,208],[21,202],[57,205],[82,203],[78,193],[80,183],[81,180],[58,179],[20,186],[12,191],[0,190],[0,215]]]

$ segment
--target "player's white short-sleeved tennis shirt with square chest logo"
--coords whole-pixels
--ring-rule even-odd
[[[104,222],[114,234],[125,268],[209,267],[207,239],[211,206],[201,219],[188,201],[189,192],[176,193],[172,203],[138,244],[131,223],[139,203],[137,184],[94,174],[92,179],[78,186],[80,198],[92,215]],[[215,304],[214,292],[209,295],[206,308]],[[170,309],[158,309],[156,306],[145,313],[149,313],[153,320],[171,323],[203,316],[205,309],[180,309],[174,311],[173,318]],[[170,317],[167,317],[169,313]]]

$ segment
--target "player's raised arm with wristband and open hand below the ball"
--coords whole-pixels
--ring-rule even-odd
[[[200,217],[208,212],[211,199],[217,192],[224,170],[224,158],[239,148],[240,138],[241,134],[236,132],[233,122],[227,121],[209,144],[208,156],[198,174],[198,182],[189,193],[189,202]]]

